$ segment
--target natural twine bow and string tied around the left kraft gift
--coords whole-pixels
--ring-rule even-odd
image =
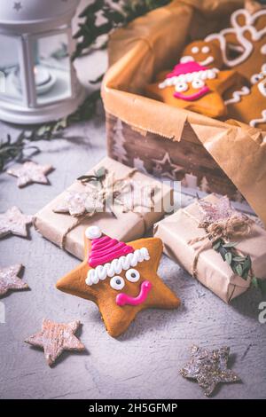
[[[106,175],[105,180],[100,179],[99,181],[100,181],[101,188],[100,190],[98,190],[97,200],[95,201],[96,202],[95,208],[90,212],[86,211],[82,216],[78,216],[74,219],[74,222],[70,224],[69,227],[67,227],[66,231],[61,236],[60,248],[64,249],[66,247],[66,237],[69,232],[74,230],[75,227],[77,227],[79,224],[82,224],[85,218],[94,216],[95,213],[98,212],[97,203],[100,203],[103,207],[106,204],[106,206],[108,206],[111,212],[113,213],[113,210],[111,209],[111,205],[112,205],[112,202],[115,200],[121,206],[123,213],[129,212],[130,211],[129,207],[125,204],[125,202],[122,199],[121,200],[119,199],[119,196],[129,191],[132,193],[133,185],[131,181],[129,180],[134,176],[134,174],[136,174],[136,172],[137,172],[137,169],[131,169],[126,176],[117,178],[117,179],[115,179],[113,172],[110,172]],[[83,183],[84,181],[82,181],[82,184]],[[95,191],[96,189],[96,186],[91,185],[90,183],[86,184],[86,187],[90,188],[91,191],[92,190]],[[152,201],[152,205],[154,206],[153,195],[151,196],[151,201]],[[142,205],[142,207],[146,207],[146,206]],[[113,213],[113,216],[115,216],[114,213]],[[145,233],[147,230],[145,216],[141,212],[137,212],[137,216],[139,216],[143,221],[144,233]]]

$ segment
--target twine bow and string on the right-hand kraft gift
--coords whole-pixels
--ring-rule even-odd
[[[194,217],[200,224],[200,221]],[[197,266],[199,261],[199,256],[201,252],[212,248],[217,240],[223,239],[225,243],[231,241],[231,238],[244,238],[251,232],[251,225],[253,220],[245,215],[232,215],[228,218],[215,221],[211,224],[201,225],[207,233],[205,236],[197,237],[188,241],[189,245],[194,245],[195,243],[202,242],[200,248],[196,251],[193,263],[192,263],[192,276],[196,277]],[[205,241],[207,240],[207,241]],[[239,256],[244,256],[244,254],[239,250],[235,249],[236,254]]]

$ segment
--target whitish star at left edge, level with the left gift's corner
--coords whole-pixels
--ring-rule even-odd
[[[32,223],[32,216],[23,215],[16,206],[0,214],[0,239],[7,234],[27,238],[27,224]]]

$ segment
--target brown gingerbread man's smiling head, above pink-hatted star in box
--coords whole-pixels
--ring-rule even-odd
[[[200,65],[207,66],[209,68],[223,67],[222,51],[218,44],[195,41],[189,43],[182,53],[180,62],[185,64],[186,62],[196,61]]]

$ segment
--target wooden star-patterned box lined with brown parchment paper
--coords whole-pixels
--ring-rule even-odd
[[[176,64],[186,43],[226,28],[244,3],[176,0],[118,29],[109,42],[102,97],[110,156],[203,191],[234,197],[238,189],[266,224],[265,133],[144,96],[145,86]]]

